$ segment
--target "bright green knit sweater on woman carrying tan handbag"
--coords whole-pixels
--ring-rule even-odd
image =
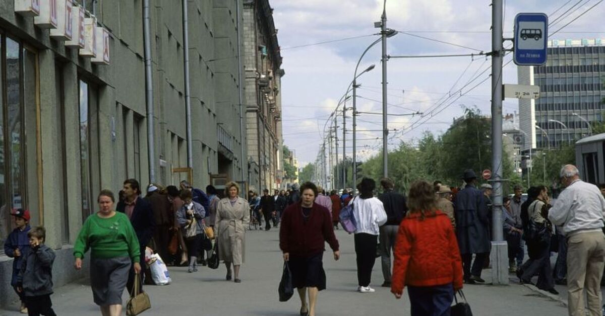
[[[124,213],[116,212],[111,218],[88,216],[77,236],[74,257],[83,258],[89,248],[93,258],[130,257],[139,262],[139,239]]]

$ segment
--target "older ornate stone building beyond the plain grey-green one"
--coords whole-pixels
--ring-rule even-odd
[[[244,69],[250,189],[283,188],[280,45],[268,0],[244,0]]]

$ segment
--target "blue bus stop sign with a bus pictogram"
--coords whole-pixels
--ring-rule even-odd
[[[515,16],[515,64],[544,65],[547,41],[548,16],[544,13],[519,13]]]

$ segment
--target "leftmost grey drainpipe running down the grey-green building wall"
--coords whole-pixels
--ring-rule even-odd
[[[147,100],[147,149],[149,153],[149,182],[155,182],[155,141],[153,114],[153,83],[151,74],[151,26],[149,0],[143,0],[143,41],[145,42],[145,94]]]

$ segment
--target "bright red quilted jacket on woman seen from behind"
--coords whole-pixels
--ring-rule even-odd
[[[462,260],[446,214],[436,211],[420,219],[419,213],[408,213],[396,240],[391,292],[401,294],[405,285],[462,288]]]

